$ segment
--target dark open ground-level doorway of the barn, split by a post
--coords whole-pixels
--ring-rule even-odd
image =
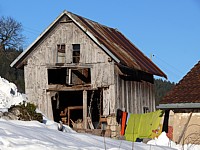
[[[61,111],[65,112],[69,107],[83,106],[83,91],[59,91],[51,99],[54,121],[59,122],[66,117],[66,123],[68,123],[68,112],[65,116],[61,116]],[[102,114],[101,89],[87,91],[87,112],[87,116],[92,119],[94,127],[97,128]],[[83,109],[71,109],[69,126],[72,127],[71,120],[75,122],[79,119],[83,120]]]

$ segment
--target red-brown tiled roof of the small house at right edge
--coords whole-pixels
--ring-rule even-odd
[[[160,101],[160,104],[200,103],[200,61]]]

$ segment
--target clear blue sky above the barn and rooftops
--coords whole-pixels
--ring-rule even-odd
[[[200,60],[199,0],[0,0],[0,16],[21,22],[31,44],[63,10],[120,30],[179,82]]]

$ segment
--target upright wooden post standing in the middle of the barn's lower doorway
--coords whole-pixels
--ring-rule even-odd
[[[83,91],[83,127],[87,129],[87,91]]]

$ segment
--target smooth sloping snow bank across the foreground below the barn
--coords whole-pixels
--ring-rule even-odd
[[[54,124],[52,123],[52,126]],[[90,134],[60,132],[37,121],[0,119],[1,150],[172,150],[169,147],[132,143]]]

